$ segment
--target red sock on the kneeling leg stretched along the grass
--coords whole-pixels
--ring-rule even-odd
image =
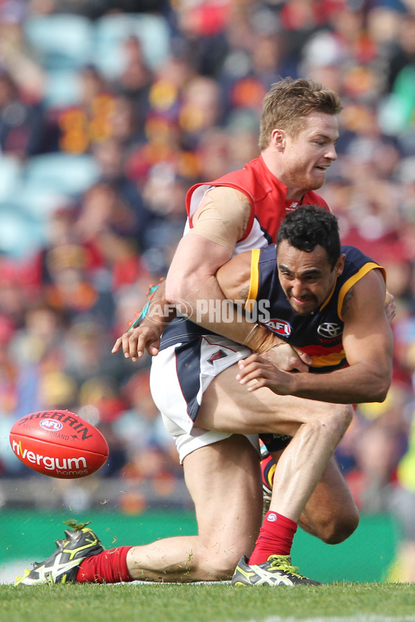
[[[120,583],[133,581],[127,570],[127,553],[131,547],[117,547],[86,557],[81,563],[77,583]]]

